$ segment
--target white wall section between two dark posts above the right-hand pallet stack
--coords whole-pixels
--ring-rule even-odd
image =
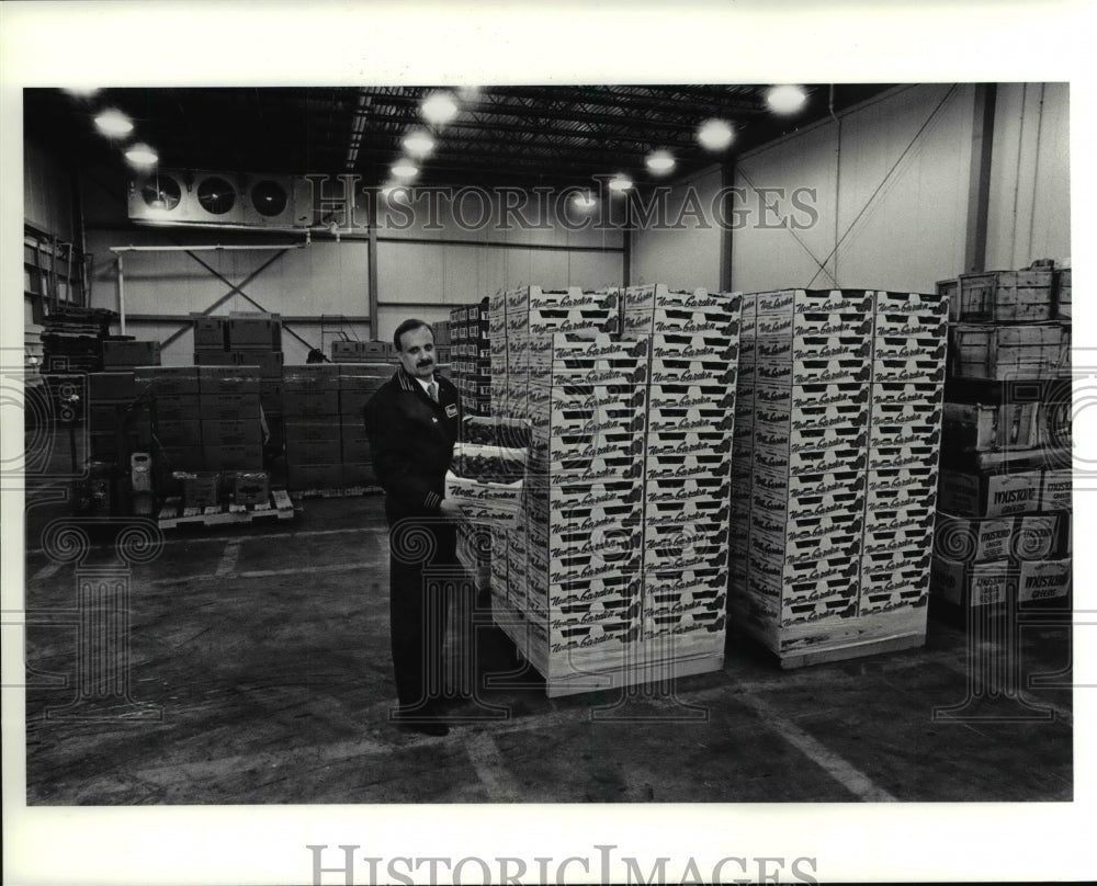
[[[915,86],[853,109],[839,117],[840,154],[829,120],[744,155],[734,183],[751,215],[732,235],[733,287],[934,292],[959,273],[974,91]],[[761,208],[767,188],[777,214]]]

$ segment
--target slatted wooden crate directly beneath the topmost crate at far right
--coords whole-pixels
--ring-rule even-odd
[[[950,330],[952,375],[958,378],[1054,378],[1070,372],[1071,328],[957,323]]]

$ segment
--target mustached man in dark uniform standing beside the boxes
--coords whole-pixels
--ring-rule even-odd
[[[365,406],[373,468],[385,490],[388,520],[389,612],[399,709],[395,718],[442,736],[442,646],[448,600],[427,587],[423,567],[456,568],[461,510],[445,499],[445,472],[461,421],[461,399],[436,373],[434,336],[422,320],[405,320],[393,337],[399,368]]]

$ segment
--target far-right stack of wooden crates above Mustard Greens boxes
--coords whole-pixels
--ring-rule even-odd
[[[1056,285],[1058,284],[1058,285]],[[1071,279],[1050,262],[951,297],[932,592],[966,620],[1071,590]]]

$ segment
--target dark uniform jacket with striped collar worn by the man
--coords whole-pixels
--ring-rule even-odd
[[[461,397],[437,372],[438,402],[404,367],[365,405],[373,469],[388,519],[438,513],[461,423]]]

